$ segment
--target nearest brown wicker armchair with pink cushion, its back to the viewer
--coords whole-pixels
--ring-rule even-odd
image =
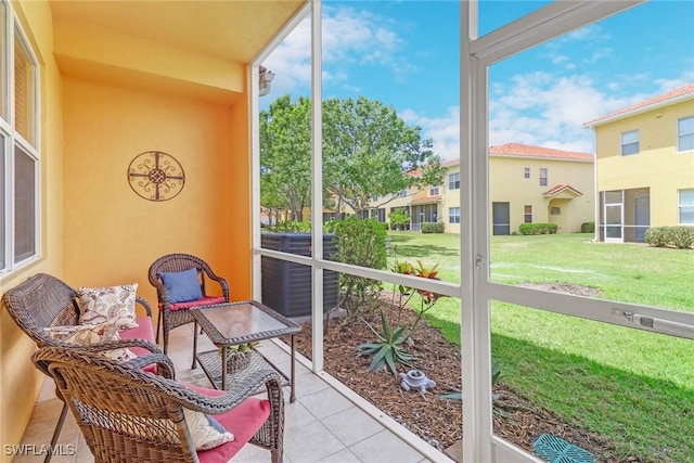
[[[164,355],[151,355],[174,371]],[[33,361],[49,371],[69,404],[94,462],[226,462],[246,442],[282,461],[284,402],[280,377],[271,369],[219,391],[144,373],[128,362],[75,349],[47,347]],[[266,385],[268,399],[250,397]],[[234,440],[196,451],[183,409],[215,415]]]

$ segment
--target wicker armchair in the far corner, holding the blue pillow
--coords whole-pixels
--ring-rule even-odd
[[[187,303],[172,303],[169,291],[162,280],[162,273],[165,272],[182,272],[184,270],[197,269],[197,278],[200,282],[202,299]],[[168,353],[169,332],[175,327],[187,323],[197,322],[190,314],[188,309],[191,307],[214,306],[218,304],[229,303],[229,283],[221,276],[215,274],[213,269],[203,259],[191,256],[190,254],[169,254],[162,256],[150,266],[147,272],[150,283],[156,288],[156,295],[159,307],[159,319],[156,324],[156,340],[159,342],[159,327],[164,331],[164,353]],[[206,292],[206,281],[211,280],[221,286],[222,295],[220,297],[208,296]]]

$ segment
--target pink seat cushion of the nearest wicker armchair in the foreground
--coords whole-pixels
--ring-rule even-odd
[[[222,390],[185,384],[189,389],[205,396],[220,396]],[[234,440],[210,450],[197,452],[201,463],[223,463],[235,455],[250,440],[270,416],[270,402],[267,399],[250,397],[227,413],[213,415],[222,426],[234,435]]]

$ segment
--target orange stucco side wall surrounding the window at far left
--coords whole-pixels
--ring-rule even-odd
[[[0,294],[29,275],[63,272],[63,149],[61,76],[53,60],[53,29],[47,2],[14,4],[40,65],[40,156],[41,156],[41,258],[0,279]],[[31,416],[35,397],[44,376],[36,370],[30,356],[31,342],[4,309],[0,311],[0,442],[17,443]],[[57,413],[57,411],[56,411]],[[57,419],[57,415],[56,415]],[[1,462],[10,462],[4,454]]]

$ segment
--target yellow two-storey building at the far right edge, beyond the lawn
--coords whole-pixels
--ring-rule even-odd
[[[694,83],[586,123],[595,131],[599,223],[606,242],[694,226]]]

